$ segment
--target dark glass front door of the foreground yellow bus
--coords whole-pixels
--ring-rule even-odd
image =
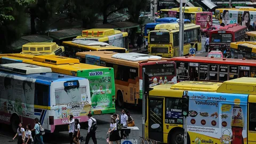
[[[156,141],[163,141],[163,101],[163,98],[148,100],[148,137]]]

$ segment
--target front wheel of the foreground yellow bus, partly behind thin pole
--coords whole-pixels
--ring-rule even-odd
[[[169,144],[183,144],[184,139],[184,129],[182,128],[174,128],[172,131],[169,132],[168,135],[168,143]],[[190,144],[190,138],[188,134],[187,144]]]

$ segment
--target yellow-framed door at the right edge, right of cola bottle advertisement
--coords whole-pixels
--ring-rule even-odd
[[[252,97],[256,97],[256,95],[249,95],[249,102],[253,100],[251,100],[250,98]],[[255,101],[254,101],[255,102]],[[247,135],[247,139],[248,139],[248,144],[252,144],[252,143],[256,143],[256,103],[249,103],[249,117],[248,117],[248,135]]]

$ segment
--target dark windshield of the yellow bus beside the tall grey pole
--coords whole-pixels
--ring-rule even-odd
[[[169,43],[170,42],[170,34],[169,32],[150,32],[150,43]]]

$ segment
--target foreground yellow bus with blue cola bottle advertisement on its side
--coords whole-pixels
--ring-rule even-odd
[[[256,78],[155,86],[147,97],[145,137],[184,143],[182,95],[189,96],[187,143],[256,143]],[[171,94],[170,94],[171,93]]]

